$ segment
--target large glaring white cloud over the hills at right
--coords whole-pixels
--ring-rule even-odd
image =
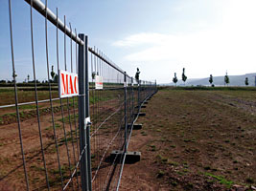
[[[140,49],[129,53],[126,61],[143,62],[145,67],[157,62],[158,67],[172,72],[181,70],[177,66],[183,64],[192,77],[224,74],[226,70],[229,74],[256,72],[256,1],[224,2],[221,23],[211,29],[180,35],[141,32],[113,45]],[[159,77],[164,80],[160,74]],[[166,76],[166,80],[169,78]]]

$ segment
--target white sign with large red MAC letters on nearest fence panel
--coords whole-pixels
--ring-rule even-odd
[[[60,98],[79,95],[78,74],[58,71],[58,94]]]

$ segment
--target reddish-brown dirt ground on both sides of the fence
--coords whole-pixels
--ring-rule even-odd
[[[105,118],[102,113],[110,114],[119,108],[116,99],[109,99],[105,104],[99,100],[95,106],[91,105],[94,121],[91,130]],[[78,110],[76,102],[75,110],[71,103],[69,119],[66,106],[63,117],[58,101],[54,107],[61,172],[66,183],[70,168],[74,170],[75,160],[79,157],[76,155],[79,137],[75,130],[78,128]],[[35,108],[21,109],[21,130],[30,186],[33,190],[45,190]],[[60,180],[51,111],[46,103],[39,110],[49,183],[51,190],[58,190]],[[255,91],[161,90],[142,112],[147,115],[137,122],[143,124],[143,129],[133,131],[129,144],[129,150],[142,152],[142,158],[140,162],[125,165],[120,190],[236,190],[235,184],[243,186],[243,189],[255,186]],[[7,115],[10,118],[7,123],[0,123],[0,190],[25,190],[17,124],[10,116]],[[116,134],[113,124],[119,127],[118,118],[119,113],[105,123],[92,139],[93,173],[107,141]],[[3,121],[7,120],[4,118]],[[64,126],[67,145],[63,137]],[[113,131],[109,130],[110,127]],[[102,138],[105,144],[99,141]],[[70,167],[66,147],[71,156]],[[112,147],[109,152],[114,150]],[[104,162],[103,166],[106,166]],[[99,174],[99,181],[105,179],[108,167]],[[77,181],[81,182],[80,175],[75,177],[76,187]]]

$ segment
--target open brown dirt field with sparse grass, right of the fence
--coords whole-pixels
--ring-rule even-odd
[[[120,190],[254,190],[256,93],[161,90],[129,151]]]

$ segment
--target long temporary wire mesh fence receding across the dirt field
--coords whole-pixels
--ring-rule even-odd
[[[9,0],[13,80],[0,90],[0,190],[117,190],[133,123],[143,102],[156,93],[156,83],[135,82],[104,53],[90,48],[87,36],[67,27],[65,17],[62,23],[58,10],[47,9],[47,1],[25,1],[30,5],[33,80],[16,80]],[[36,70],[33,8],[45,19],[45,83],[36,77],[42,71]],[[50,45],[55,53],[49,51],[49,25],[56,29]],[[79,74],[79,96],[58,96],[52,65]],[[96,88],[98,76],[102,89]],[[110,158],[112,151],[121,156]]]

